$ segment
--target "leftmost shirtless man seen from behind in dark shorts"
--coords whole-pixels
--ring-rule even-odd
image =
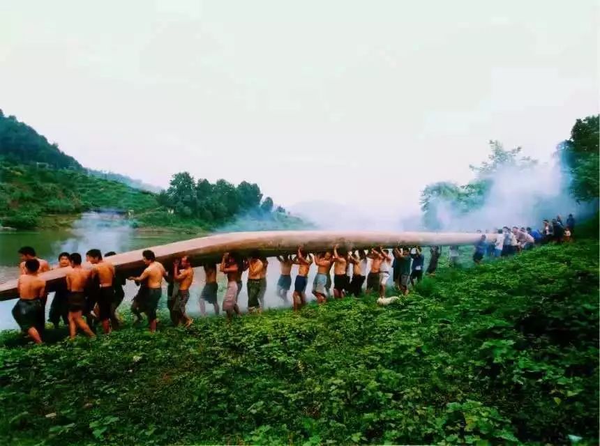
[[[27,259],[23,266],[25,273],[19,277],[17,284],[19,300],[13,308],[13,317],[21,330],[27,332],[36,344],[41,344],[42,338],[36,325],[40,319],[40,313],[42,320],[44,317],[42,299],[46,293],[46,282],[38,277],[40,262],[37,259]]]

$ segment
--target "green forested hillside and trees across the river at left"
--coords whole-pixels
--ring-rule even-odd
[[[246,181],[210,183],[179,172],[167,190],[157,194],[151,189],[120,174],[84,169],[57,144],[0,111],[0,226],[33,229],[40,227],[44,215],[94,208],[131,210],[135,226],[188,232],[209,231],[238,222],[241,216],[248,217],[247,229],[306,226],[263,197],[257,184]]]

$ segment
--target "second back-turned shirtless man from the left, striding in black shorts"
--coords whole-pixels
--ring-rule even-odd
[[[85,287],[91,276],[91,270],[84,270],[81,267],[81,255],[73,252],[69,256],[71,270],[67,272],[66,282],[68,290],[68,308],[69,308],[69,338],[75,339],[77,327],[88,337],[96,337],[89,325],[84,321],[83,312],[87,308],[85,301]]]

